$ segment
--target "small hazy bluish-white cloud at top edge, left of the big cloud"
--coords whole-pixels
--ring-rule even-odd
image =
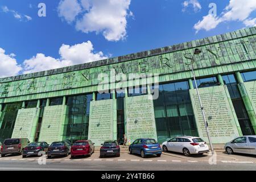
[[[63,17],[68,23],[73,22],[82,10],[77,0],[61,0],[57,9],[59,16]]]

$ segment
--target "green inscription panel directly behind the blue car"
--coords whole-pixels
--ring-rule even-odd
[[[127,138],[133,142],[137,138],[156,136],[153,101],[148,95],[125,98]]]

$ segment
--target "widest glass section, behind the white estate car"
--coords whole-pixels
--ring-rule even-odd
[[[179,135],[198,136],[187,81],[159,85],[154,110],[158,142]]]

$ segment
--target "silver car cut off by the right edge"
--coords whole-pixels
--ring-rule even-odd
[[[224,146],[228,154],[241,153],[256,155],[256,135],[238,137]]]

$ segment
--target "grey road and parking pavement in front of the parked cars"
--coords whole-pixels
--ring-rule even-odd
[[[44,163],[45,162],[45,163]],[[174,152],[163,152],[160,158],[148,156],[141,158],[139,155],[130,155],[122,150],[120,157],[100,158],[100,153],[95,151],[90,157],[56,156],[52,159],[39,156],[22,158],[20,155],[7,155],[0,158],[0,171],[120,171],[120,170],[256,170],[256,156],[253,155],[228,155],[217,151],[216,155],[192,155],[189,157]]]

